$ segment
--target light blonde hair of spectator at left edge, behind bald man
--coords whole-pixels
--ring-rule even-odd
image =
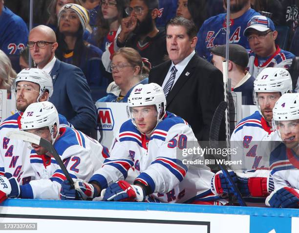
[[[2,86],[7,90],[7,93],[11,93],[11,85],[16,77],[17,73],[12,68],[10,59],[0,50],[0,78],[3,80]]]

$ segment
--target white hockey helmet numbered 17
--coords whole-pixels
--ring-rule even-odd
[[[254,100],[260,110],[257,93],[280,92],[281,95],[292,92],[292,78],[283,68],[267,67],[262,70],[254,81]]]

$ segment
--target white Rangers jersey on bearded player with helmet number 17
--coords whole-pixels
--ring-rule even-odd
[[[232,155],[231,159],[242,159],[243,161],[242,167],[238,166],[234,169],[242,171],[268,170],[270,148],[272,147],[270,134],[272,132],[272,128],[258,111],[242,119],[236,125],[231,136],[231,147],[237,149],[237,154]]]

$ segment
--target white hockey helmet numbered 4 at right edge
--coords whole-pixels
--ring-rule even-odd
[[[279,121],[299,119],[299,93],[286,93],[282,95],[273,108],[272,125],[278,130]],[[278,131],[278,135],[279,131]]]

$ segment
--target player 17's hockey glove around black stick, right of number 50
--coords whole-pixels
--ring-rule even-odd
[[[237,185],[237,177],[235,175],[235,172],[231,171],[229,172],[231,175],[233,181],[235,182],[235,185]],[[212,191],[214,194],[234,194],[234,191],[232,187],[230,186],[229,182],[223,175],[222,171],[217,172],[213,177],[212,177]]]

